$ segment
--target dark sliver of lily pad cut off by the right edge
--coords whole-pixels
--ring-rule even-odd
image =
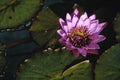
[[[120,13],[117,14],[115,21],[114,21],[114,30],[117,34],[116,39],[120,42]]]

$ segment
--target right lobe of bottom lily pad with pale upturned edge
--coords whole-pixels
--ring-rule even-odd
[[[63,72],[63,80],[93,80],[92,66],[88,60],[73,65]]]

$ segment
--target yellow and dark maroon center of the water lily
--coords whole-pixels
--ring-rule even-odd
[[[86,28],[73,29],[69,34],[69,38],[75,47],[82,47],[90,42],[89,34]]]

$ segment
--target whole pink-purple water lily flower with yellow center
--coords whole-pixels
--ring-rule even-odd
[[[95,14],[90,17],[86,12],[79,15],[78,9],[75,9],[73,16],[69,13],[66,14],[66,21],[59,18],[62,27],[57,30],[61,36],[59,42],[65,45],[66,49],[72,51],[75,57],[86,56],[87,53],[98,54],[100,46],[97,43],[106,39],[105,36],[99,34],[107,23],[99,23]]]

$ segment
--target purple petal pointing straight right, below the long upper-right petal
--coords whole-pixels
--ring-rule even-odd
[[[90,36],[90,38],[92,39],[92,43],[99,43],[101,41],[104,41],[106,39],[105,36],[103,35],[98,35],[98,34],[94,34],[92,36]]]

